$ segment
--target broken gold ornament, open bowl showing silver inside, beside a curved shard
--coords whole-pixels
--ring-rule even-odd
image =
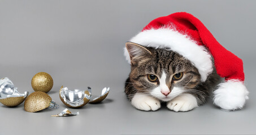
[[[92,97],[91,88],[88,90],[75,89],[74,91],[68,90],[67,87],[63,86],[59,89],[59,98],[68,107],[79,108],[86,105]]]

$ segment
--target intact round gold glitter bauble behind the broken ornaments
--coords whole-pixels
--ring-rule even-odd
[[[53,88],[53,78],[45,72],[37,73],[31,80],[31,86],[34,91],[47,93]]]

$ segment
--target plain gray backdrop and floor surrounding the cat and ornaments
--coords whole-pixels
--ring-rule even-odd
[[[0,134],[255,134],[255,7],[255,1],[0,1],[0,77],[32,93],[33,75],[45,71],[54,79],[49,95],[60,105],[27,113],[24,103],[1,104]],[[151,20],[179,11],[198,17],[244,60],[250,100],[243,110],[225,112],[209,100],[186,113],[145,112],[125,98],[125,42]],[[62,85],[90,86],[93,95],[111,91],[102,104],[70,109],[78,116],[52,118],[66,108]]]

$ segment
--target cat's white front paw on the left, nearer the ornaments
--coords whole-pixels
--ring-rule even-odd
[[[159,100],[140,93],[134,95],[131,103],[136,109],[144,111],[155,111],[161,107]]]

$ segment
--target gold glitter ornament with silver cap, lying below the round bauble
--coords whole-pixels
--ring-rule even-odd
[[[46,109],[47,107],[58,108],[59,105],[51,100],[51,97],[45,92],[33,92],[29,95],[24,104],[24,108],[28,112],[37,112]]]

